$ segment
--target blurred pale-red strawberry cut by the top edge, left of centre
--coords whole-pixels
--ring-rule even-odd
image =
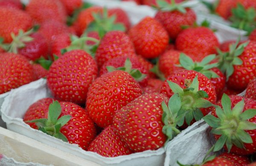
[[[65,23],[67,17],[65,8],[59,0],[30,0],[26,12],[38,24],[48,20]]]

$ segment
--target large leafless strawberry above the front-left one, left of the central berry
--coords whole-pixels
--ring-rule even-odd
[[[97,74],[96,63],[90,54],[73,50],[52,63],[47,85],[56,99],[84,104],[88,88]]]

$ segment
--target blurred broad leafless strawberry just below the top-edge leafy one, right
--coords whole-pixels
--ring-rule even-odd
[[[177,36],[175,46],[186,54],[205,57],[215,54],[219,47],[218,39],[207,27],[188,28]]]

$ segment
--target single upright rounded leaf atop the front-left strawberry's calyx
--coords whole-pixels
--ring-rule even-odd
[[[52,122],[52,124],[56,124],[58,117],[61,114],[61,105],[58,101],[54,101],[49,105],[48,112],[48,120]]]

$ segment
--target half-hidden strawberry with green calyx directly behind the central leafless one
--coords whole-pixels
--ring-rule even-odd
[[[100,69],[99,75],[113,72],[114,70],[128,72],[142,87],[145,87],[148,84],[148,71],[136,57],[114,57],[104,63]]]

